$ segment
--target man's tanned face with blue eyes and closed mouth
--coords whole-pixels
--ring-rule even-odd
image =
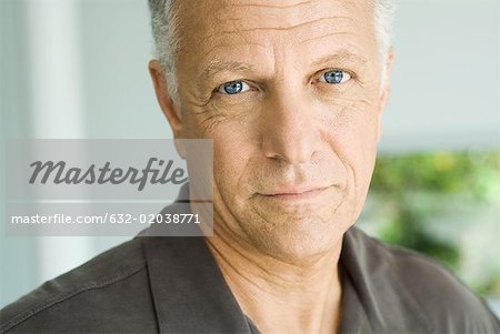
[[[358,219],[386,100],[370,2],[180,4],[176,133],[213,139],[217,235],[297,260]]]

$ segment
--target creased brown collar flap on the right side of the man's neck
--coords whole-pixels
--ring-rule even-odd
[[[423,310],[382,253],[358,227],[344,234],[340,255],[342,333],[432,333]]]

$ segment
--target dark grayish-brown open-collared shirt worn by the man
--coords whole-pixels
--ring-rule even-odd
[[[500,333],[441,265],[357,227],[339,265],[341,333]],[[8,305],[0,323],[0,333],[259,333],[202,237],[134,237]]]

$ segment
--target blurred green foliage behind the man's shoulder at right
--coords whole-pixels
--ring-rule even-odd
[[[380,155],[370,193],[390,208],[379,237],[430,255],[457,273],[463,250],[429,232],[424,222],[442,214],[440,208],[446,203],[432,203],[437,198],[462,195],[468,205],[500,205],[500,151]],[[487,246],[500,247],[500,235],[498,240]],[[500,259],[493,261],[500,263]],[[480,293],[499,293],[500,272],[473,287]]]

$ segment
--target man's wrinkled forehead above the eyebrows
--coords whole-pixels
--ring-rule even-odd
[[[377,49],[371,0],[202,0],[196,3],[181,1],[178,8],[180,54],[188,58],[196,54],[211,59],[231,52],[248,58],[299,50],[312,54],[326,48],[350,49],[369,58]]]

